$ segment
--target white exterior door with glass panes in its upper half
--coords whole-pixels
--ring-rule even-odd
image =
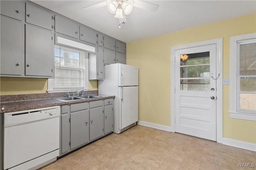
[[[216,141],[216,44],[175,51],[175,131]]]

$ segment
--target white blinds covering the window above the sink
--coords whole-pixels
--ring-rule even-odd
[[[83,51],[55,46],[54,89],[83,89],[85,56]]]

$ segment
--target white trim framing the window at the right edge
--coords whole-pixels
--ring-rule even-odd
[[[249,33],[244,35],[236,35],[230,37],[230,117],[236,119],[256,121],[256,114],[237,112],[237,87],[236,87],[236,55],[237,55],[237,41],[256,38],[256,33]]]

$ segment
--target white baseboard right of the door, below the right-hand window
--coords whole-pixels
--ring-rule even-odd
[[[222,144],[232,146],[232,147],[242,148],[246,150],[252,150],[256,152],[255,143],[248,143],[248,142],[238,141],[238,140],[229,139],[229,138],[222,138]]]

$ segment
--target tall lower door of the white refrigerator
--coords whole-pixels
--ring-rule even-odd
[[[121,129],[138,121],[138,86],[120,87]]]

